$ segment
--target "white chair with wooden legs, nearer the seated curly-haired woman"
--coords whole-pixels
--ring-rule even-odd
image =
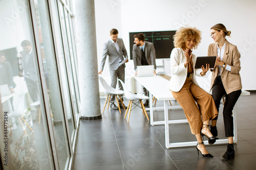
[[[145,117],[145,115],[146,115],[146,118],[147,118],[147,120],[149,121],[150,119],[148,119],[145,106],[144,106],[144,104],[143,104],[143,102],[142,102],[143,99],[144,99],[144,100],[148,100],[148,99],[149,99],[148,96],[131,93],[131,92],[127,89],[127,87],[125,86],[125,84],[124,84],[120,79],[118,79],[118,81],[120,81],[121,84],[122,84],[122,86],[123,86],[123,91],[124,91],[125,98],[126,98],[127,100],[129,100],[129,104],[128,104],[128,106],[127,106],[127,110],[126,110],[126,113],[125,113],[125,116],[124,116],[124,118],[126,118],[128,109],[130,109],[130,110],[129,110],[129,115],[128,115],[128,121],[127,121],[127,122],[129,122],[129,119],[130,119],[131,110],[132,110],[132,103],[134,103],[134,101],[137,101],[137,100],[138,100],[138,102],[139,102],[140,105],[141,105],[141,109],[142,109],[142,111],[143,111],[144,117]],[[138,102],[137,102],[137,103],[134,103],[134,104],[135,104],[136,106],[138,106]],[[136,107],[136,106],[135,106],[135,107]]]

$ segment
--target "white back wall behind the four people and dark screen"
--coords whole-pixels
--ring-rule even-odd
[[[194,51],[196,56],[206,56],[207,48],[214,41],[210,27],[223,23],[231,31],[227,37],[238,46],[241,53],[241,78],[243,89],[256,90],[256,76],[252,70],[256,63],[256,1],[253,0],[97,0],[95,1],[98,65],[102,44],[108,40],[109,31],[116,28],[130,53],[129,32],[177,30],[180,26],[197,27],[202,31],[202,41]],[[168,65],[167,65],[168,66]],[[126,75],[133,70],[133,61],[126,64]],[[167,70],[168,71],[168,68]],[[102,73],[109,77],[108,64]],[[207,89],[207,79],[199,79],[200,86]]]

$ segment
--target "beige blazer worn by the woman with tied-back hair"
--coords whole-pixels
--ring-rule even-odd
[[[208,56],[217,56],[217,42],[211,43],[209,45]],[[226,40],[225,51],[222,61],[231,66],[231,71],[228,71],[222,67],[221,80],[227,94],[229,94],[232,91],[242,89],[242,82],[239,74],[239,71],[241,69],[240,57],[241,55],[238,51],[237,46],[229,43]],[[212,89],[212,86],[214,86],[217,75],[218,68],[212,71],[210,90]]]

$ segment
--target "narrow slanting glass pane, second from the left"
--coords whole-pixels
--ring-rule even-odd
[[[37,5],[38,3],[38,5]],[[70,117],[69,100],[62,98],[57,72],[57,61],[53,51],[53,40],[50,38],[51,28],[47,16],[46,4],[44,1],[35,1],[38,32],[41,33],[40,50],[44,64],[44,74],[47,81],[47,92],[52,113],[52,123],[56,142],[56,152],[60,169],[64,169],[69,162],[70,149],[67,134],[65,110]],[[67,91],[67,88],[64,92]],[[69,126],[68,126],[69,127]],[[72,127],[72,126],[71,126]],[[72,133],[71,133],[72,134]]]

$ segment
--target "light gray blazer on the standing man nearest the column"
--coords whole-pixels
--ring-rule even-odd
[[[123,61],[124,58],[127,56],[127,51],[125,49],[123,39],[117,38],[117,43],[119,45],[119,52],[116,50],[115,44],[109,39],[103,44],[103,54],[102,54],[102,61],[100,63],[100,70],[103,70],[106,56],[109,56],[109,68],[110,70],[117,70],[119,66],[119,61]],[[120,60],[119,60],[120,59]],[[123,64],[125,67],[125,64]]]

